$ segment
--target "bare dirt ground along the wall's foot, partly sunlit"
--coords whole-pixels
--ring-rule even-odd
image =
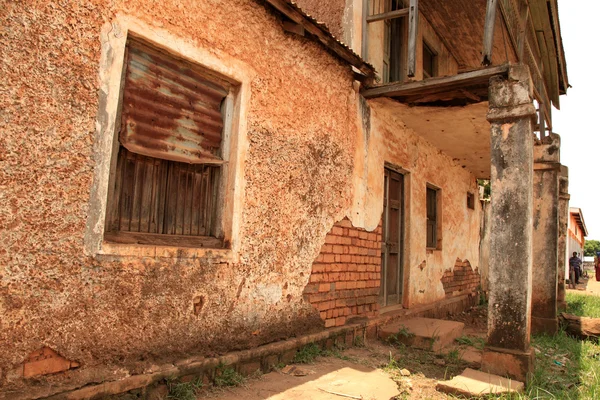
[[[446,394],[435,390],[436,382],[450,379],[469,366],[477,367],[486,318],[485,307],[453,316],[452,319],[465,323],[465,343],[456,343],[439,354],[370,341],[365,347],[330,352],[311,364],[296,364],[305,376],[286,374],[283,368],[250,379],[237,388],[204,393],[202,398],[446,399]],[[409,375],[403,376],[401,371]]]

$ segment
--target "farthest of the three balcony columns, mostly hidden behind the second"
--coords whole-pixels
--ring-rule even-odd
[[[564,165],[560,169],[558,186],[558,291],[557,306],[559,311],[567,309],[565,296],[565,277],[567,274],[567,230],[569,224],[569,168]]]

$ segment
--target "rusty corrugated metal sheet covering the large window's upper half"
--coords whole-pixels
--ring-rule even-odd
[[[148,48],[127,46],[121,144],[148,157],[219,163],[226,87],[192,64]]]

